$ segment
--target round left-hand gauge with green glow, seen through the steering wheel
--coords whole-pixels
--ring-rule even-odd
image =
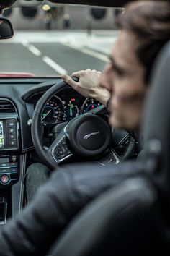
[[[42,111],[41,120],[47,124],[55,124],[63,119],[63,103],[60,98],[54,96]]]

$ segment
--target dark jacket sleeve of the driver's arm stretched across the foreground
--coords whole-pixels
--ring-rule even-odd
[[[46,255],[56,237],[88,202],[128,177],[143,173],[142,162],[59,168],[30,205],[0,230],[1,256]]]

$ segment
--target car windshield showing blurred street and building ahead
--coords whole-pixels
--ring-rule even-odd
[[[58,77],[81,69],[102,71],[117,38],[122,9],[69,4],[6,9],[14,37],[0,40],[0,76]]]

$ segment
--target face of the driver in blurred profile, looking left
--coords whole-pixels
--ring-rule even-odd
[[[135,35],[122,30],[100,80],[102,86],[112,91],[109,123],[113,127],[140,127],[146,85],[145,69],[135,53],[136,46]]]

